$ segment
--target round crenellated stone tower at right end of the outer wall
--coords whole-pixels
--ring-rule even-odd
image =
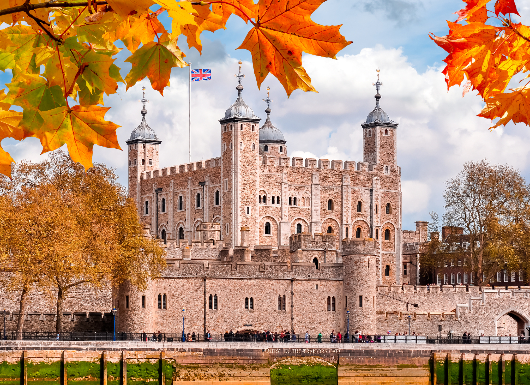
[[[348,298],[350,335],[355,330],[370,335],[379,331],[375,318],[376,256],[377,244],[373,238],[342,241],[343,295]]]

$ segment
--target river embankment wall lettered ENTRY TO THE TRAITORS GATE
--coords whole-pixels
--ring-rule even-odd
[[[2,385],[530,384],[526,345],[0,343]]]

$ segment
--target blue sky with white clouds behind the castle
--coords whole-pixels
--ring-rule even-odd
[[[530,0],[516,0],[522,21],[528,25]],[[466,161],[487,158],[509,163],[528,179],[530,134],[524,125],[509,125],[489,131],[490,122],[476,116],[482,108],[479,97],[452,88],[447,92],[444,76],[445,51],[432,42],[428,33],[447,33],[445,20],[454,21],[461,0],[328,0],[313,14],[320,24],[343,24],[340,32],[353,43],[339,52],[337,60],[304,55],[303,64],[319,93],[295,91],[287,99],[276,78],[269,75],[258,90],[246,50],[236,50],[248,25],[232,16],[227,30],[204,32],[202,57],[187,50],[185,39],[179,46],[193,68],[211,68],[211,82],[192,87],[192,161],[220,154],[218,119],[235,98],[237,60],[243,60],[243,97],[255,115],[264,118],[267,85],[271,88],[271,118],[287,140],[290,156],[362,160],[360,124],[375,105],[377,67],[381,68],[382,108],[398,122],[398,164],[403,188],[403,228],[414,229],[414,221],[429,220],[432,210],[443,213],[444,181],[455,176]],[[125,51],[125,50],[124,50]],[[128,56],[122,52],[120,59]],[[118,64],[125,77],[129,63]],[[11,73],[0,73],[8,83]],[[122,126],[118,138],[125,140],[141,120],[142,86],[147,87],[148,124],[162,139],[162,167],[188,161],[188,68],[174,68],[171,86],[164,97],[153,91],[146,79],[127,93],[121,85],[118,95],[105,98],[112,107],[106,118]],[[6,90],[7,91],[7,90]],[[15,160],[39,160],[39,141],[10,138],[2,146]],[[127,183],[127,154],[94,147],[94,162],[117,169]]]

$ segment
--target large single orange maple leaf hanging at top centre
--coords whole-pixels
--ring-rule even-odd
[[[302,52],[330,57],[351,44],[339,33],[341,25],[320,25],[311,14],[325,0],[260,0],[257,22],[238,49],[252,54],[258,88],[272,73],[287,95],[296,89],[317,92],[302,67]]]

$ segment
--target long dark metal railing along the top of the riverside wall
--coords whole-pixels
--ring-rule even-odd
[[[19,338],[17,338],[19,337]],[[7,340],[61,340],[61,341],[136,341],[136,342],[248,342],[248,343],[345,343],[345,344],[530,344],[529,337],[515,337],[515,336],[471,336],[470,339],[463,336],[392,336],[392,335],[374,335],[362,336],[355,338],[355,336],[334,336],[330,335],[315,335],[311,334],[306,337],[303,335],[290,335],[281,338],[274,334],[263,335],[258,334],[195,334],[185,333],[161,333],[161,334],[143,334],[143,333],[61,333],[59,337],[54,332],[34,332],[24,331],[17,333],[15,331],[8,331],[4,335],[1,334],[0,339]]]

